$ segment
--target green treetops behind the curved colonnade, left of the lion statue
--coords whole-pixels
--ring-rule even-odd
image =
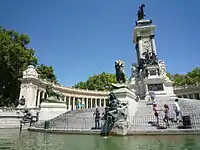
[[[101,73],[89,77],[85,82],[79,82],[74,85],[74,88],[88,89],[88,90],[99,90],[99,91],[110,91],[112,90],[111,83],[116,83],[115,74]]]

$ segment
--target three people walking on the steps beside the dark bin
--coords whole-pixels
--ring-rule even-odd
[[[182,111],[180,109],[179,103],[178,103],[178,99],[175,99],[174,105],[173,105],[173,110],[175,112],[175,120],[173,120],[174,122],[181,122],[181,118],[182,118]],[[159,126],[159,111],[163,111],[164,112],[164,118],[163,121],[166,124],[166,128],[169,128],[169,106],[167,104],[164,104],[164,109],[158,109],[157,108],[157,104],[153,104],[153,112],[154,112],[154,116],[156,117],[156,125]]]

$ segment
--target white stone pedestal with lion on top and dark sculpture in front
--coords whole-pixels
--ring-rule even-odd
[[[105,108],[102,135],[126,135],[137,110],[135,91],[128,88],[124,73],[124,62],[115,61],[116,84],[112,84],[113,91],[109,94],[109,101]]]

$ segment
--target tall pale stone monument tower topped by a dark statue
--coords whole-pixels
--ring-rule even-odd
[[[152,20],[145,19],[145,5],[138,9],[133,43],[137,63],[132,65],[129,88],[135,89],[140,99],[148,99],[150,92],[160,96],[175,96],[173,82],[166,75],[164,61],[159,60],[155,44],[155,29]]]

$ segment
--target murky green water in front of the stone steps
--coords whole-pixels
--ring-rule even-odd
[[[66,135],[0,130],[0,150],[200,150],[200,136]]]

